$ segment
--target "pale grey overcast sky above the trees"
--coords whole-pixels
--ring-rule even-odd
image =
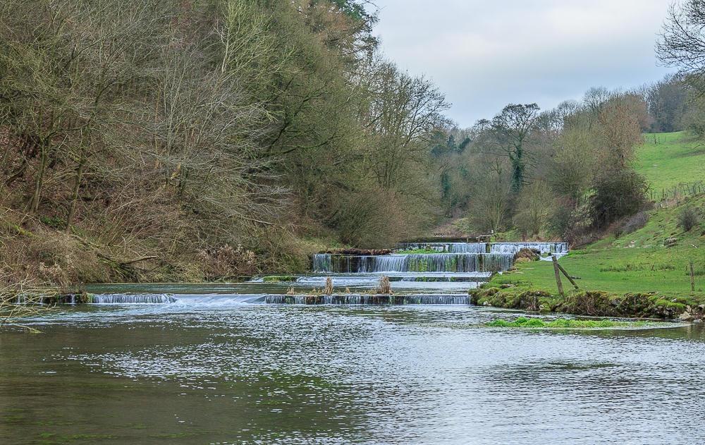
[[[671,0],[375,0],[389,59],[427,75],[461,127],[505,104],[551,109],[591,86],[633,87],[658,66],[656,35]]]

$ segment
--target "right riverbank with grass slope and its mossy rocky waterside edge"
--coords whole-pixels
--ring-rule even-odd
[[[518,262],[494,275],[482,288],[470,291],[472,301],[575,315],[702,319],[705,230],[696,226],[684,231],[678,214],[685,207],[703,205],[703,196],[681,200],[680,205],[651,212],[646,225],[633,233],[572,250],[558,262],[568,274],[580,277],[575,280],[579,289],[563,277],[563,296],[558,295],[553,264],[535,261]]]

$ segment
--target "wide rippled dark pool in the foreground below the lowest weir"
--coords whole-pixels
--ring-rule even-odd
[[[472,306],[68,307],[0,334],[0,444],[693,444],[705,341]]]

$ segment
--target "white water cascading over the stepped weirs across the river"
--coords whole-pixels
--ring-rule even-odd
[[[159,308],[166,311],[191,307],[220,310],[235,305],[263,303],[469,305],[472,303],[468,290],[477,288],[493,272],[510,269],[515,253],[523,248],[557,256],[568,252],[567,243],[412,243],[400,245],[400,249],[419,249],[422,252],[314,255],[314,274],[297,276],[295,280],[288,276],[286,279],[284,276],[268,276],[246,283],[148,284],[136,285],[144,287],[132,291],[125,285],[116,285],[115,293],[97,285],[97,288],[87,289],[91,294],[82,295],[80,299],[72,296],[70,300],[67,298],[56,304],[69,301],[104,305],[175,303]],[[381,276],[388,279],[388,282],[385,279],[385,284],[391,286],[391,293],[381,293],[384,288]],[[322,295],[329,285],[333,286],[333,294]],[[130,310],[145,309],[133,307]]]

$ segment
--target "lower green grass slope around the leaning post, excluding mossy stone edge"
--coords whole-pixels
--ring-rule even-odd
[[[676,227],[678,210],[685,205],[705,205],[705,197],[692,198],[680,207],[668,207],[651,213],[644,228],[613,236],[587,248],[574,250],[559,263],[576,280],[582,291],[611,293],[658,292],[701,300],[705,296],[705,236],[702,228],[688,233]],[[678,238],[678,243],[665,247],[666,238]],[[689,263],[693,263],[696,291],[690,287]],[[505,272],[493,279],[493,284],[514,284],[518,289],[542,289],[556,292],[553,264],[547,261],[520,262],[517,271]],[[572,288],[563,277],[563,288]]]

